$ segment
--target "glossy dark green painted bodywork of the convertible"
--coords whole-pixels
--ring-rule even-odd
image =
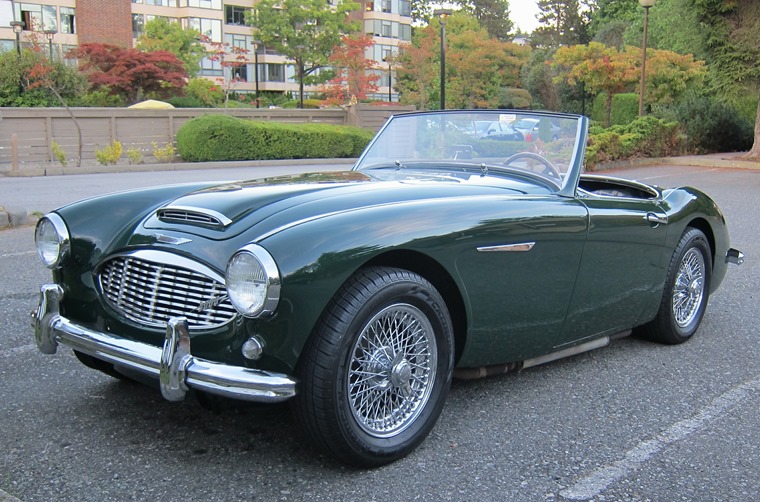
[[[193,331],[193,353],[291,373],[317,319],[356,270],[405,260],[412,270],[436,270],[428,277],[434,284],[452,285],[447,303],[462,311],[458,365],[487,366],[651,320],[687,225],[708,234],[715,253],[712,289],[719,286],[728,233],[717,206],[694,189],[649,190],[641,198],[567,197],[503,176],[403,174],[377,181],[349,172],[125,192],[57,211],[71,232],[72,252],[55,277],[66,291],[63,315],[158,346],[162,329],[139,326],[101,300],[96,271],[103,261],[130,250],[161,249],[223,276],[235,251],[258,243],[282,277],[275,315],[238,316],[222,327]],[[213,209],[231,223],[166,223],[155,216],[166,205]],[[667,225],[648,222],[648,213],[667,217]],[[159,234],[190,242],[162,243]],[[526,243],[533,243],[529,251],[479,250]],[[266,350],[251,362],[240,347],[254,334]]]

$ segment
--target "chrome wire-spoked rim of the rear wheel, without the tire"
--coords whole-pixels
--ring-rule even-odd
[[[680,328],[686,328],[697,317],[704,294],[705,260],[692,248],[678,266],[673,287],[673,318]]]

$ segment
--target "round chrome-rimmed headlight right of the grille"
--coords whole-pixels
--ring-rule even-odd
[[[274,312],[280,301],[280,274],[274,259],[261,246],[250,244],[227,263],[227,295],[246,317]]]

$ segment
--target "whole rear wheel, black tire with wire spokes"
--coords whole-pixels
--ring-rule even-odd
[[[705,315],[711,275],[710,243],[700,230],[689,227],[670,259],[657,316],[642,326],[642,335],[669,345],[691,338]]]

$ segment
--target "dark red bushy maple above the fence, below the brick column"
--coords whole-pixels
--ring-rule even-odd
[[[80,70],[95,88],[122,95],[129,103],[165,98],[187,83],[184,64],[168,51],[143,52],[108,44],[82,44],[74,50]]]

